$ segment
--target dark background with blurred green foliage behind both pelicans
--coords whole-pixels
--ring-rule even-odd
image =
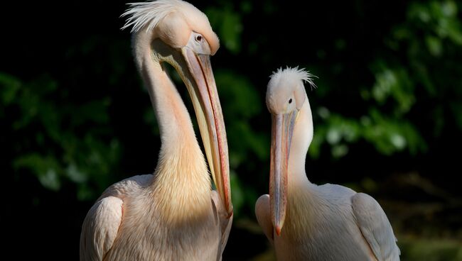
[[[191,3],[221,43],[212,63],[235,207],[224,260],[274,259],[253,209],[268,191],[264,91],[286,66],[318,76],[318,88],[306,88],[314,121],[308,179],[374,196],[402,260],[462,260],[460,1]],[[159,130],[129,30],[120,30],[126,8],[1,4],[4,252],[77,260],[82,221],[101,192],[154,171]]]

